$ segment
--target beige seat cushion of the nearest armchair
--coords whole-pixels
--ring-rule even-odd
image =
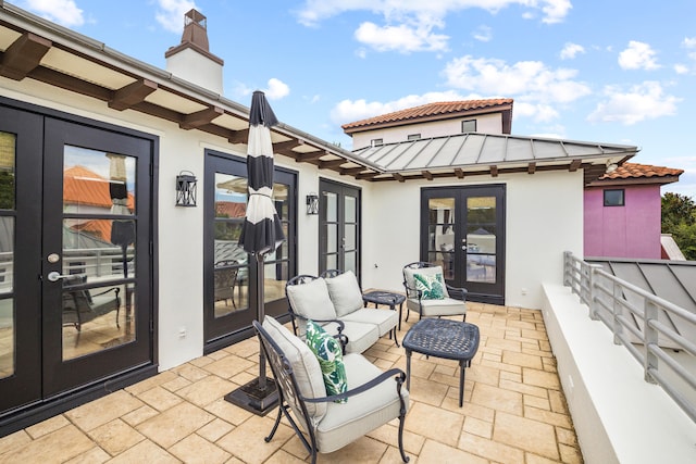
[[[348,389],[359,387],[382,374],[382,371],[361,354],[344,356]],[[401,387],[401,397],[409,405],[409,392]],[[316,444],[322,453],[331,453],[357,440],[363,435],[397,418],[401,404],[396,390],[396,380],[386,380],[378,386],[350,397],[347,403],[330,403],[326,415],[316,426]]]

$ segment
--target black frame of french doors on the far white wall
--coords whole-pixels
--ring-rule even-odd
[[[495,197],[496,198],[496,265],[495,283],[467,281],[467,250],[462,248],[463,230],[467,228],[464,213],[467,211],[467,199],[470,197]],[[473,186],[443,186],[424,187],[421,189],[421,261],[428,261],[431,253],[438,253],[439,250],[428,250],[430,244],[430,210],[428,200],[431,198],[455,198],[455,217],[451,223],[455,227],[455,278],[446,279],[447,284],[453,287],[463,287],[469,290],[467,299],[470,301],[505,304],[505,281],[506,281],[506,185],[505,184],[483,184]]]

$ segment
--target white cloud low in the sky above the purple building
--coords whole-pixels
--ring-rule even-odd
[[[622,90],[618,86],[607,86],[607,100],[597,104],[587,120],[591,122],[618,122],[630,126],[646,120],[671,116],[676,113],[676,103],[682,99],[666,95],[657,81],[643,84]]]

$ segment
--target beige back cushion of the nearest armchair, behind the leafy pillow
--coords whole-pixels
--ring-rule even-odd
[[[326,387],[324,386],[322,368],[312,350],[271,316],[265,316],[263,319],[263,328],[269,333],[271,339],[281,347],[283,354],[293,366],[295,380],[300,393],[307,398],[325,397]],[[299,413],[299,404],[293,404],[295,399],[286,396],[286,400]],[[326,414],[326,403],[306,403],[304,405],[307,406],[307,413],[316,422],[321,421]]]

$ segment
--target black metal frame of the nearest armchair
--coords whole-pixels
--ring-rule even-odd
[[[285,418],[290,423],[290,426],[295,430],[295,434],[297,434],[307,451],[311,454],[312,464],[315,464],[316,454],[320,452],[320,450],[316,447],[316,437],[314,436],[314,430],[312,428],[312,421],[309,413],[307,412],[307,406],[304,403],[328,403],[337,400],[343,400],[368,391],[374,386],[380,385],[388,379],[394,379],[396,380],[396,390],[401,402],[401,407],[399,410],[399,452],[401,453],[401,460],[403,460],[405,463],[409,462],[409,456],[407,456],[403,451],[403,422],[406,418],[406,402],[403,401],[403,397],[401,396],[401,387],[403,385],[403,381],[406,380],[406,373],[403,371],[399,368],[391,368],[373,378],[369,383],[350,389],[340,394],[333,394],[322,398],[306,398],[300,393],[297,380],[295,379],[295,374],[293,373],[293,367],[285,358],[283,350],[281,350],[277,343],[269,336],[269,334],[261,326],[261,324],[259,324],[258,321],[253,321],[252,324],[253,328],[257,330],[259,340],[261,340],[263,352],[265,353],[266,360],[269,360],[269,365],[271,366],[271,371],[273,372],[273,376],[275,377],[275,381],[278,387],[278,414],[275,419],[275,424],[273,424],[271,432],[268,437],[264,438],[266,443],[273,439],[273,436],[275,435],[278,425],[281,424],[281,419],[283,418],[283,416],[285,416]],[[300,405],[300,411],[295,411],[295,413],[301,414],[304,424],[307,424],[307,435],[309,435],[309,439],[304,436],[304,434],[302,434],[302,430],[289,413],[290,404],[287,402],[287,400],[293,398],[297,400],[293,401],[293,403]]]

